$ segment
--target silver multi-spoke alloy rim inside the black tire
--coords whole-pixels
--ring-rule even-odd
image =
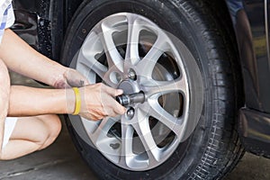
[[[190,94],[181,50],[187,49],[172,37],[139,14],[113,14],[94,26],[76,56],[76,69],[91,84],[145,95],[116,118],[82,118],[94,148],[117,166],[159,166],[184,139]]]

